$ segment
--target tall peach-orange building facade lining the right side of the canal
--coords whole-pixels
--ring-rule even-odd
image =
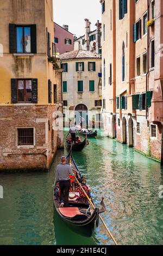
[[[162,162],[163,3],[101,4],[105,133]]]

